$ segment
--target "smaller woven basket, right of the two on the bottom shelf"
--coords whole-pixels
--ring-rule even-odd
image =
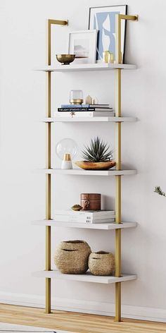
[[[89,255],[89,270],[94,275],[112,275],[115,270],[115,257],[113,253],[99,251]]]

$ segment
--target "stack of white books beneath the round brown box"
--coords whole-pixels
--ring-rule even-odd
[[[115,222],[114,210],[56,210],[55,221],[71,223],[110,223]]]

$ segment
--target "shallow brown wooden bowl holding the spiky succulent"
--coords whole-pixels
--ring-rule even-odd
[[[86,161],[77,161],[75,165],[84,170],[108,170],[115,166],[115,161],[107,162],[86,162]]]

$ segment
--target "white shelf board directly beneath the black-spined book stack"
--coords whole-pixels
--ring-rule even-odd
[[[131,123],[136,121],[136,117],[49,117],[45,118],[42,122],[44,123],[64,123],[64,122],[70,122],[70,123],[75,123],[75,122],[100,122],[100,123]]]

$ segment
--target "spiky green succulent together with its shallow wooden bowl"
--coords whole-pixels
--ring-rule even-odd
[[[89,146],[84,146],[82,150],[83,161],[75,164],[84,170],[108,170],[115,166],[113,151],[108,143],[104,143],[100,138],[91,139]]]

